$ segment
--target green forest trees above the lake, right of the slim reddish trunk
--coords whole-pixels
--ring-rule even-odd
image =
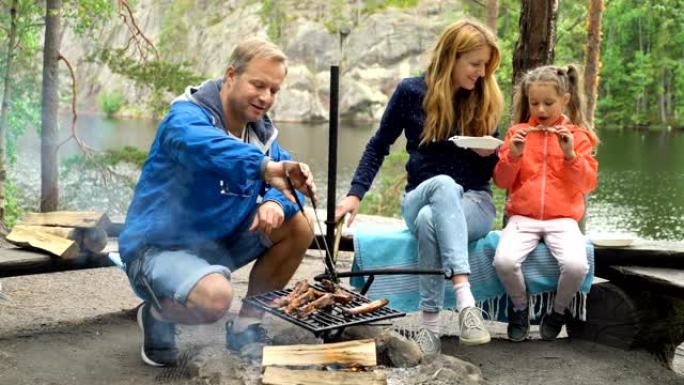
[[[614,0],[606,6],[597,122],[684,126],[682,25],[682,0]]]

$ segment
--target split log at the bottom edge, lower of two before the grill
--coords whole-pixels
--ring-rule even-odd
[[[261,379],[264,385],[385,385],[380,372],[290,370],[268,367]]]

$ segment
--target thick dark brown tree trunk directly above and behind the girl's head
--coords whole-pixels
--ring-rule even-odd
[[[522,0],[513,53],[513,83],[528,70],[553,63],[558,0]]]

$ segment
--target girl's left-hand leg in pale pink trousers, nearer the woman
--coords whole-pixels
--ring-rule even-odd
[[[521,265],[542,237],[542,221],[514,215],[501,232],[494,255],[494,268],[511,297],[513,308],[527,308],[527,289]]]

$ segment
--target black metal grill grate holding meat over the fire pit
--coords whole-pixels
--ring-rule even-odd
[[[317,283],[311,285],[316,290],[325,292],[326,290]],[[353,300],[347,304],[335,303],[333,306],[327,309],[318,310],[317,312],[310,315],[308,318],[299,319],[295,316],[285,313],[283,310],[274,308],[271,306],[273,300],[278,297],[289,294],[292,289],[276,290],[264,294],[255,295],[244,299],[244,302],[256,306],[258,308],[264,309],[267,312],[280,317],[288,322],[292,322],[304,329],[309,330],[318,336],[321,333],[329,332],[331,330],[344,328],[352,325],[360,325],[369,322],[375,322],[390,318],[403,317],[406,314],[398,310],[394,310],[389,306],[382,307],[374,312],[360,314],[356,316],[350,316],[344,314],[342,309],[350,309],[359,305],[363,305],[371,302],[368,298],[349,291],[347,289],[341,288],[347,293],[353,296]]]

